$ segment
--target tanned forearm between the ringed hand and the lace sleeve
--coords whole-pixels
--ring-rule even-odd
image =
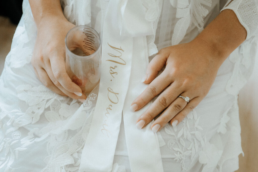
[[[222,11],[196,37],[205,42],[219,65],[246,39],[246,30],[232,10]]]

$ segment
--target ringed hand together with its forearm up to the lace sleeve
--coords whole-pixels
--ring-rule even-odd
[[[148,65],[144,83],[149,86],[132,103],[131,110],[139,110],[163,92],[138,118],[136,126],[151,124],[154,132],[167,122],[173,126],[181,122],[207,95],[217,71],[224,60],[245,39],[247,31],[232,10],[223,10],[190,43],[163,48]],[[158,71],[166,65],[157,78]],[[179,95],[189,97],[187,103]]]

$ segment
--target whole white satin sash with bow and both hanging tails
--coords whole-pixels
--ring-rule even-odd
[[[150,124],[142,130],[135,125],[148,105],[137,112],[129,110],[146,88],[141,79],[148,64],[146,35],[152,34],[152,27],[144,16],[141,1],[109,1],[103,26],[98,100],[80,171],[112,170],[122,110],[131,170],[163,171],[157,135]]]

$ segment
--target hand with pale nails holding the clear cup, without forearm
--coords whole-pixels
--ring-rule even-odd
[[[36,76],[47,88],[83,102],[86,95],[69,78],[65,67],[65,37],[73,27],[75,25],[63,16],[45,15],[37,25],[31,64]]]

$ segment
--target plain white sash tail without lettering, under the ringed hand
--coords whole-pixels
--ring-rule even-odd
[[[149,62],[146,37],[134,37],[133,39],[131,76],[123,108],[125,139],[130,167],[133,172],[161,172],[163,166],[157,134],[150,129],[153,121],[143,129],[138,129],[135,126],[138,117],[147,110],[151,103],[149,102],[136,112],[129,110],[133,100],[147,87],[147,84],[142,83],[141,80]]]

